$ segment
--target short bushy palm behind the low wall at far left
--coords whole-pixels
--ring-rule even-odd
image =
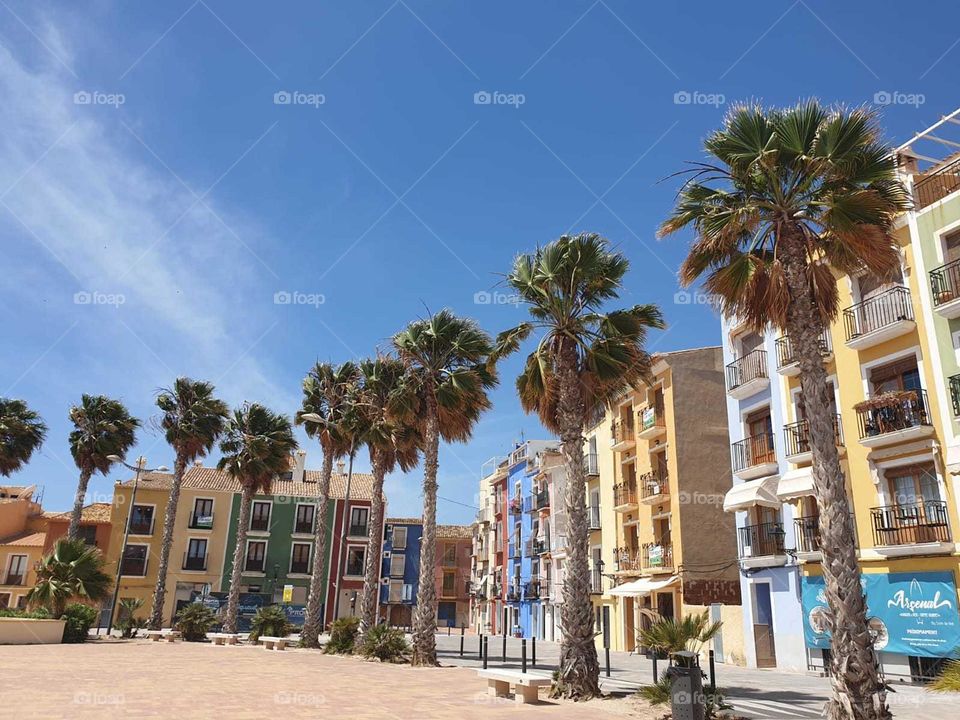
[[[60,618],[70,600],[105,600],[113,584],[104,572],[105,565],[103,555],[95,547],[83,540],[61,538],[53,552],[40,561],[37,582],[27,593],[27,602],[45,607],[53,617]]]

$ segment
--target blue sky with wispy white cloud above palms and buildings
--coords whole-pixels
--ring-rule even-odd
[[[660,181],[731,102],[873,104],[896,143],[960,104],[953,2],[82,5],[0,2],[0,395],[50,426],[13,479],[51,509],[81,393],[122,398],[137,451],[170,465],[149,419],[177,375],[292,413],[316,360],[386,348],[427,309],[511,326],[499,275],[566,231],[630,258],[623,304],[670,326],[652,349],[716,344],[718,318],[675,296],[690,237],[654,232]],[[544,436],[519,365],[441,450],[443,521],[471,518],[481,463]],[[390,513],[418,514],[419,481],[389,479]]]

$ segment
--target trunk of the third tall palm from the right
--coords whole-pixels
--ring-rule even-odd
[[[423,536],[420,539],[420,588],[413,617],[413,665],[437,665],[437,455],[440,421],[437,398],[427,394],[423,452]]]

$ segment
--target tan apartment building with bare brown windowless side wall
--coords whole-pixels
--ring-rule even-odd
[[[730,485],[729,436],[719,347],[654,356],[646,387],[625,392],[612,415],[615,585],[611,644],[646,651],[639,630],[655,617],[708,612],[722,620],[721,662],[743,663],[734,519],[721,502]],[[601,470],[601,491],[604,476]]]

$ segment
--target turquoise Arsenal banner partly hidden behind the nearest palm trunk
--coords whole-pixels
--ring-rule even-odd
[[[871,573],[860,576],[874,648],[919,657],[960,653],[960,615],[952,572]],[[824,580],[801,580],[803,635],[807,647],[830,648],[833,617]]]

